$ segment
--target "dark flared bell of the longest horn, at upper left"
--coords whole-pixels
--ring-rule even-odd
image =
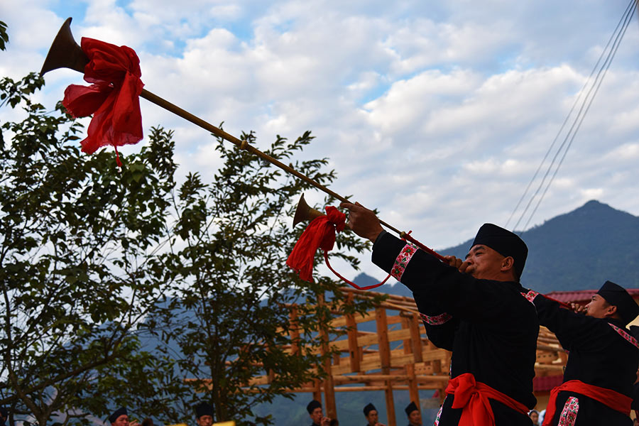
[[[53,39],[47,58],[40,70],[40,76],[46,72],[58,68],[70,68],[84,73],[84,66],[89,63],[89,58],[84,54],[71,33],[71,18],[67,18],[60,27],[58,35]]]

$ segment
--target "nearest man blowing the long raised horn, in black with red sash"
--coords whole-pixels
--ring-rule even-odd
[[[413,291],[432,342],[452,350],[435,424],[530,426],[539,322],[519,283],[525,243],[484,224],[466,260],[446,256],[447,265],[384,231],[371,210],[341,205],[351,229],[373,241],[373,263]]]

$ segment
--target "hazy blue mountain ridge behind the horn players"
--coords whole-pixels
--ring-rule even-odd
[[[639,217],[592,200],[520,236],[528,245],[521,278],[525,287],[540,293],[587,290],[611,280],[626,288],[639,288]],[[473,238],[439,252],[464,258]],[[366,274],[354,279],[357,285],[374,282],[376,279]],[[410,296],[400,283],[376,290]]]

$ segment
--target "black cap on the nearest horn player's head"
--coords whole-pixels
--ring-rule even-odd
[[[520,278],[528,257],[528,247],[517,234],[497,225],[483,224],[477,231],[471,248],[477,244],[490,247],[501,256],[511,256],[515,260],[515,278]]]

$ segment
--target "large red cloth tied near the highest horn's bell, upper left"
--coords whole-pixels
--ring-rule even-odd
[[[98,148],[116,148],[138,143],[142,139],[140,94],[144,84],[140,77],[140,60],[133,49],[93,38],[82,38],[82,51],[89,58],[84,80],[90,86],[71,84],[62,104],[72,116],[93,114],[88,136],[81,142],[82,152]],[[118,158],[119,162],[119,158]]]

